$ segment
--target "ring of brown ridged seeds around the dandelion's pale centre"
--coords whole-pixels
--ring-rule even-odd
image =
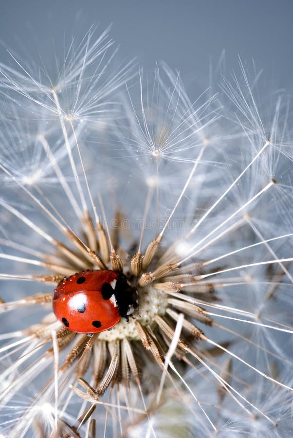
[[[198,281],[205,263],[195,261],[181,266],[179,258],[172,254],[172,247],[164,250],[164,247],[161,246],[160,237],[148,245],[145,255],[138,252],[129,261],[127,252],[118,245],[119,230],[118,232],[115,230],[115,238],[111,239],[110,243],[103,227],[99,225],[96,235],[90,215],[86,213],[85,217],[87,219],[81,221],[84,225],[82,239],[67,229],[64,232],[76,250],[73,251],[70,246],[62,242],[54,241],[56,252],[54,255],[44,256],[47,261],[43,264],[52,274],[32,275],[31,278],[56,285],[65,276],[73,275],[80,270],[111,269],[124,272],[129,281],[137,288],[139,308],[132,315],[129,323],[122,320],[110,331],[94,333],[92,337],[82,333],[76,334],[66,327],[60,327],[60,323],[55,322],[53,313],[45,317],[40,324],[25,330],[24,333],[31,336],[32,339],[39,339],[43,344],[50,344],[53,340],[52,327],[55,327],[55,338],[59,352],[70,348],[63,363],[59,366],[59,379],[66,378],[70,373],[73,378],[73,383],[70,386],[72,391],[80,399],[91,403],[90,408],[82,414],[76,424],[70,425],[64,419],[58,420],[60,433],[65,437],[79,436],[79,428],[90,419],[96,404],[102,402],[107,389],[112,388],[115,384],[123,384],[129,389],[131,381],[133,381],[141,394],[147,393],[147,388],[143,387],[141,380],[144,372],[141,359],[144,357],[143,351],[145,350],[146,354],[150,355],[149,359],[152,358],[154,364],[157,364],[164,372],[165,358],[169,348],[171,348],[175,329],[182,314],[184,318],[181,335],[174,350],[174,357],[177,360],[196,369],[189,356],[200,363],[205,363],[207,356],[212,358],[214,355],[213,349],[223,352],[227,351],[229,347],[229,343],[221,345],[214,343],[194,324],[194,320],[197,320],[200,324],[214,326],[229,332],[229,329],[215,323],[210,312],[201,305],[202,302],[208,303],[216,300],[215,286],[217,284],[206,280]],[[116,242],[115,246],[113,246],[113,242]],[[94,251],[91,245],[95,248]],[[110,245],[112,246],[109,251]],[[58,261],[62,263],[58,265]],[[276,274],[275,278],[280,279],[280,275]],[[187,295],[186,292],[191,293],[191,296]],[[156,308],[152,303],[152,298],[154,299],[157,293],[160,294],[158,298],[160,307]],[[31,304],[48,306],[51,305],[52,300],[53,293],[38,293],[18,302],[3,303],[1,307],[4,309],[16,305]],[[130,327],[132,327],[132,331]],[[133,334],[133,327],[135,334]],[[208,350],[203,344],[198,346],[197,341],[204,341],[212,347]],[[49,347],[45,358],[53,358],[54,354],[54,347]],[[213,359],[210,360],[215,367],[218,367]],[[92,376],[90,383],[83,377],[89,369],[91,369]],[[223,401],[227,392],[231,393],[229,389],[231,378],[232,361],[228,360],[220,369],[217,378],[220,402]],[[268,379],[272,380],[269,377]],[[273,381],[275,382],[274,379]],[[147,415],[146,410],[144,416]],[[94,437],[94,434],[95,420],[91,420],[88,437]]]

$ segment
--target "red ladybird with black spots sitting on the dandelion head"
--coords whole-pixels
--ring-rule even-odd
[[[136,289],[124,274],[110,270],[82,271],[65,277],[54,290],[53,311],[71,331],[110,330],[137,307]]]

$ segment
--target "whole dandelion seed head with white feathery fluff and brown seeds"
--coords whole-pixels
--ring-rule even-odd
[[[192,102],[92,38],[55,75],[1,66],[1,433],[285,436],[289,109],[262,116],[242,64]],[[105,271],[119,322],[72,331],[54,290]]]

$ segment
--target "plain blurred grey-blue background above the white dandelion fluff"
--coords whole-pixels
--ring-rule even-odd
[[[6,48],[25,58],[46,57],[54,39],[62,50],[64,35],[82,37],[94,24],[121,44],[120,58],[137,56],[147,70],[164,59],[180,70],[187,88],[205,85],[223,49],[227,76],[243,62],[276,87],[292,91],[292,0],[0,0],[0,57]],[[98,31],[99,32],[99,31]],[[26,52],[24,51],[24,47]],[[52,52],[52,50],[50,51]]]

